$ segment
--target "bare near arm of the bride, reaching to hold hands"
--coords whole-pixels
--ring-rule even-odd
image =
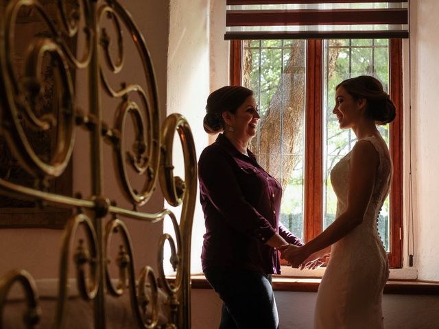
[[[311,254],[327,248],[356,228],[364,218],[375,184],[379,154],[368,141],[355,144],[351,155],[348,206],[335,221],[303,247],[287,248],[283,258],[293,267],[301,265]]]

